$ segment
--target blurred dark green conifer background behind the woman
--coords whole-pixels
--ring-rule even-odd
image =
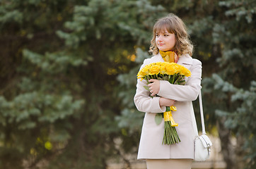
[[[211,158],[256,168],[256,1],[1,0],[0,168],[146,168],[133,96],[157,18],[187,25],[202,61]],[[199,103],[194,101],[197,125]]]

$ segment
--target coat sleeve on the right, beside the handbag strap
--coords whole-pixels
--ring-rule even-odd
[[[165,80],[160,80],[159,96],[176,101],[194,101],[201,89],[202,63],[193,59],[191,76],[187,78],[185,85],[170,84]]]

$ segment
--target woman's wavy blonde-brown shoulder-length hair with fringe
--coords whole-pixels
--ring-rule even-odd
[[[151,46],[149,52],[156,55],[159,53],[159,49],[156,46],[156,33],[166,30],[169,33],[175,34],[175,46],[172,51],[175,51],[178,56],[182,54],[193,54],[193,45],[190,41],[190,35],[187,34],[187,27],[185,23],[175,14],[170,13],[164,18],[157,20],[153,26],[153,38],[151,39]]]

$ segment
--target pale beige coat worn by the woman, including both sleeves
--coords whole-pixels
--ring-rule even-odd
[[[146,59],[141,68],[159,61],[163,62],[160,54]],[[149,96],[149,91],[144,89],[146,80],[138,80],[134,103],[139,111],[146,112],[141,130],[138,159],[194,159],[194,137],[198,133],[197,130],[194,131],[194,128],[197,127],[192,101],[197,99],[201,89],[202,63],[186,54],[180,57],[178,64],[188,68],[192,75],[186,77],[185,85],[170,84],[168,81],[161,80],[158,96],[176,100],[177,111],[173,112],[173,118],[175,123],[178,123],[176,130],[181,142],[172,145],[162,144],[164,120],[160,125],[156,125],[155,115],[156,113],[163,113],[165,106],[159,106],[160,97],[153,97],[152,99]]]

